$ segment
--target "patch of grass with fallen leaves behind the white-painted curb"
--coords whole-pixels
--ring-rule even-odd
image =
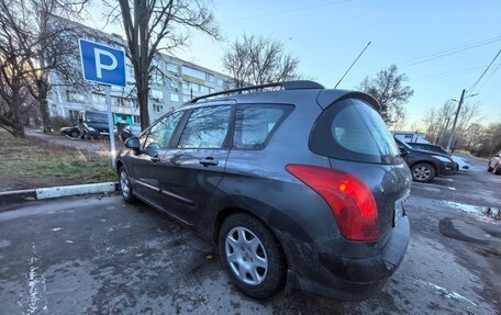
[[[15,138],[0,131],[0,191],[116,181],[111,161],[94,153]]]

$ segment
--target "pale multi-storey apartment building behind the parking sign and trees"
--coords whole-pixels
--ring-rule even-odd
[[[74,22],[71,22],[74,23]],[[86,30],[89,30],[87,26]],[[102,33],[96,31],[102,37]],[[118,35],[113,42],[125,42]],[[174,111],[192,98],[229,89],[232,78],[192,63],[159,54],[154,58],[149,81],[149,119],[155,121],[163,114]],[[53,89],[48,99],[51,116],[63,116],[76,122],[78,112],[84,110],[107,111],[104,89],[89,85],[89,89],[74,89],[52,76]],[[127,87],[112,88],[112,113],[114,123],[140,124],[140,110],[135,102],[134,70],[126,65]]]

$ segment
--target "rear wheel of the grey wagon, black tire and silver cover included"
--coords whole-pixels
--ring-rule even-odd
[[[283,252],[259,220],[243,213],[231,215],[221,226],[218,244],[224,269],[244,294],[267,299],[283,288]]]

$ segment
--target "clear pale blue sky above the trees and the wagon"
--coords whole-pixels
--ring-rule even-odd
[[[468,101],[480,104],[480,123],[501,122],[501,56],[469,90],[501,49],[499,0],[214,0],[212,8],[223,41],[193,33],[177,57],[226,72],[227,46],[243,34],[263,35],[299,58],[302,76],[332,88],[370,41],[338,88],[355,89],[396,64],[414,90],[405,105],[408,128],[422,127],[427,110],[459,99],[463,89],[478,93]],[[87,24],[99,27],[98,20]],[[120,26],[104,31],[120,32],[113,27]]]

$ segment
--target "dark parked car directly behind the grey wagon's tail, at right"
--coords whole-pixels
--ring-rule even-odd
[[[412,172],[412,178],[419,182],[430,182],[436,176],[454,175],[456,164],[448,154],[436,150],[424,150],[411,147],[409,144],[394,139]]]

